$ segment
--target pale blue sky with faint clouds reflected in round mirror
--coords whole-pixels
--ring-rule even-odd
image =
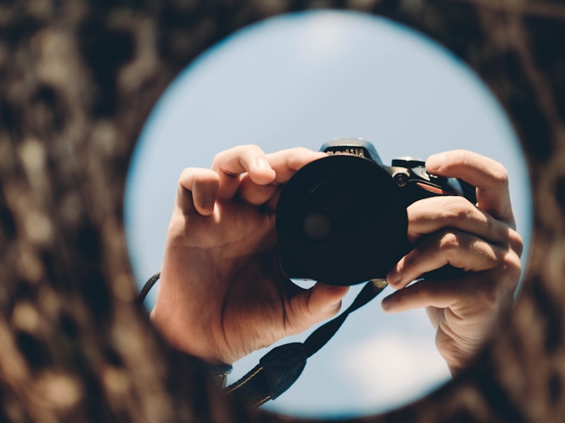
[[[237,32],[191,63],[155,106],[134,152],[124,204],[138,284],[160,269],[183,168],[207,168],[216,153],[235,145],[252,143],[266,152],[319,149],[335,137],[373,142],[385,163],[460,148],[500,161],[509,171],[518,231],[529,242],[525,160],[508,118],[480,78],[406,27],[359,13],[318,11]],[[265,352],[237,362],[231,380]],[[449,377],[424,311],[387,315],[377,299],[348,317],[309,359],[295,386],[266,408],[302,417],[383,412]]]

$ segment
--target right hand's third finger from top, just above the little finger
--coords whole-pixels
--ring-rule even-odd
[[[506,255],[516,255],[516,252],[470,233],[446,229],[422,240],[400,259],[388,272],[387,281],[393,288],[403,288],[422,274],[446,264],[465,271],[484,271],[499,265]]]

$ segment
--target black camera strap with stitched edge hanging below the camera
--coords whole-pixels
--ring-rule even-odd
[[[159,277],[160,274],[155,274],[145,283],[138,300],[143,302]],[[234,384],[227,386],[227,393],[237,395],[255,407],[280,396],[297,381],[306,367],[308,358],[330,341],[347,316],[373,300],[386,286],[387,283],[383,279],[373,279],[366,283],[351,305],[338,317],[319,326],[302,343],[287,343],[270,350],[253,369]]]

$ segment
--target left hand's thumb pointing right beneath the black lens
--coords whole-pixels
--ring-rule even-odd
[[[295,327],[295,333],[335,316],[340,311],[341,302],[348,290],[348,286],[316,283],[312,288],[291,298],[287,319]]]

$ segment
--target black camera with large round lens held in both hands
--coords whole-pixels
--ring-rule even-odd
[[[385,166],[364,140],[333,140],[321,151],[328,157],[299,169],[278,201],[276,231],[289,278],[343,286],[385,278],[414,247],[407,238],[412,202],[437,195],[476,202],[472,185],[429,174],[412,157]],[[434,276],[441,271],[452,274],[442,268]]]

